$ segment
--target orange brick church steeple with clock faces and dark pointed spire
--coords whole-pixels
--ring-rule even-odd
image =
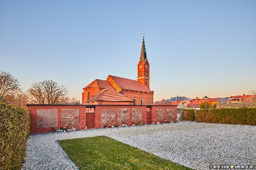
[[[149,62],[148,62],[147,53],[146,53],[144,34],[143,34],[143,41],[142,41],[141,52],[140,52],[140,60],[138,63],[137,80],[149,88]]]

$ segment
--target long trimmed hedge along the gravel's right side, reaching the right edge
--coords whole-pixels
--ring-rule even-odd
[[[256,126],[256,108],[218,108],[196,111],[196,121]]]

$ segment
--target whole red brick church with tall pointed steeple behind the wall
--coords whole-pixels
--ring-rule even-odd
[[[106,80],[95,79],[82,93],[84,105],[153,105],[154,91],[150,90],[149,62],[144,36],[138,62],[137,80],[108,75]]]

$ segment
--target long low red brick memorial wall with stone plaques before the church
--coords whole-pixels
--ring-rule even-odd
[[[177,106],[140,105],[27,105],[30,133],[51,132],[61,127],[101,128],[108,124],[154,124],[177,119]]]

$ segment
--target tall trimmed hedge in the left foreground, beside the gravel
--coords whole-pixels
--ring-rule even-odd
[[[30,116],[27,109],[0,103],[0,169],[20,169],[26,155]]]

